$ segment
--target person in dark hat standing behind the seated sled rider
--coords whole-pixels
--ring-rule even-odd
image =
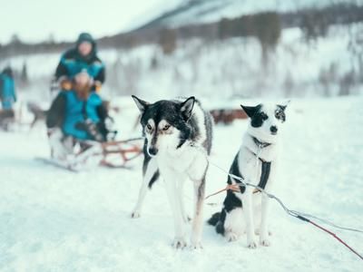
[[[97,56],[97,46],[91,34],[78,36],[74,48],[66,51],[55,71],[55,80],[62,90],[71,90],[74,77],[86,72],[92,78],[92,91],[100,92],[105,79],[103,62]]]

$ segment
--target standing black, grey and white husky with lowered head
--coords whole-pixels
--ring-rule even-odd
[[[195,209],[192,220],[191,248],[201,248],[201,228],[205,176],[211,152],[212,119],[194,97],[149,103],[132,96],[142,112],[143,182],[132,218],[140,217],[146,191],[161,175],[172,207],[174,248],[186,246],[188,218],[183,205],[183,183],[194,184]]]

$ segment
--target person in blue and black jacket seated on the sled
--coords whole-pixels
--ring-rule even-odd
[[[93,80],[83,71],[74,76],[73,89],[58,93],[47,112],[46,126],[52,156],[65,160],[74,143],[107,141],[110,117],[100,95],[92,91]]]

